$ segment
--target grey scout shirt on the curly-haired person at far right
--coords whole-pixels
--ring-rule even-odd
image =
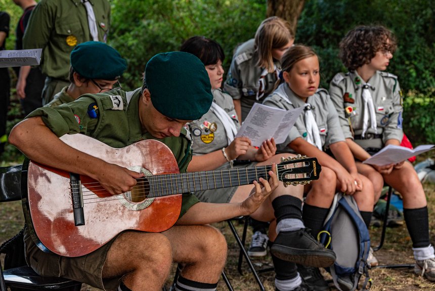
[[[380,149],[389,139],[403,138],[402,92],[397,76],[376,71],[368,81],[376,115],[376,132],[370,128],[370,114],[364,111],[363,79],[357,72],[338,73],[329,86],[331,100],[337,109],[345,138],[354,139],[361,147]],[[369,126],[362,138],[364,114],[369,116]],[[354,131],[355,137],[352,135]]]

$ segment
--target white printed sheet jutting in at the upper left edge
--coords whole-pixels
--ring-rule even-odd
[[[0,51],[0,68],[37,66],[41,60],[42,49]]]

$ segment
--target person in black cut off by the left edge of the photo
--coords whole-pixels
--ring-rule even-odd
[[[0,11],[0,51],[5,50],[6,38],[9,35],[9,14]],[[8,141],[6,123],[8,121],[8,106],[11,89],[11,78],[8,68],[0,68],[0,155],[5,150]]]

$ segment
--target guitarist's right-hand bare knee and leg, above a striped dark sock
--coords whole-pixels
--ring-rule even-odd
[[[184,264],[184,278],[218,282],[227,260],[227,242],[218,229],[209,225],[173,226],[163,234],[170,241],[173,261]]]

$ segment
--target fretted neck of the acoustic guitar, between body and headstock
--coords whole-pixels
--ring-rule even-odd
[[[269,180],[271,165],[253,168],[201,171],[148,177],[150,194],[159,197],[178,193],[211,190],[252,184],[259,178]]]

